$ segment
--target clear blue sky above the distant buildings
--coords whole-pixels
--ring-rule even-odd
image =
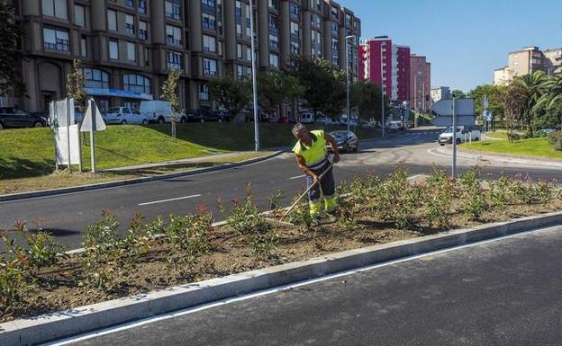
[[[562,0],[336,0],[361,19],[361,38],[388,35],[431,62],[431,86],[492,84],[507,53],[562,47]]]

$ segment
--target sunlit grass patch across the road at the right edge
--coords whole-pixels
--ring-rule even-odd
[[[562,152],[554,150],[548,144],[547,138],[521,139],[513,143],[509,143],[507,140],[473,142],[472,144],[463,144],[461,147],[498,154],[562,158]]]

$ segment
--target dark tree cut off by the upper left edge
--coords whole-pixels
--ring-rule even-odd
[[[18,40],[21,31],[14,22],[14,7],[11,1],[0,1],[0,95],[25,93],[25,85],[18,73],[21,52]]]

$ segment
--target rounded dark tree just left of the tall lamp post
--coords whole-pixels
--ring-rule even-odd
[[[247,79],[236,79],[225,75],[209,84],[214,99],[219,102],[234,119],[251,101],[251,84]]]

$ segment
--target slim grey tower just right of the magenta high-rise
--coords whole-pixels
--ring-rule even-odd
[[[429,111],[431,107],[431,63],[426,57],[410,56],[410,108]]]

